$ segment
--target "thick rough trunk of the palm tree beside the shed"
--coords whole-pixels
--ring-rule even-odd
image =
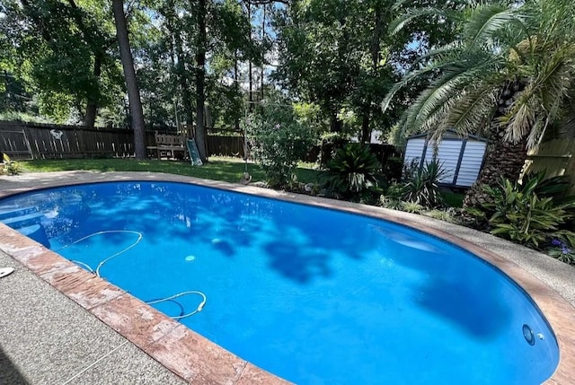
[[[499,123],[508,106],[513,101],[520,85],[511,83],[501,92],[498,111],[491,119],[490,143],[487,145],[485,162],[482,171],[473,186],[467,190],[464,197],[464,206],[482,206],[491,199],[483,191],[484,186],[496,188],[501,177],[517,182],[527,158],[527,138],[523,137],[518,143],[505,140],[505,127]]]

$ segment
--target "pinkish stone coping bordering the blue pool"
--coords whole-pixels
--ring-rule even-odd
[[[568,302],[561,293],[548,284],[544,284],[532,273],[527,272],[524,267],[517,265],[515,261],[502,255],[504,253],[490,251],[480,246],[478,242],[455,235],[454,229],[460,226],[438,221],[434,223],[434,220],[429,218],[421,221],[420,219],[423,218],[416,215],[375,206],[173,174],[70,171],[24,174],[22,179],[11,177],[0,180],[13,182],[9,183],[7,189],[0,191],[0,198],[39,188],[104,181],[174,181],[364,214],[427,232],[470,250],[475,255],[500,268],[523,287],[526,293],[529,293],[551,324],[560,348],[559,365],[553,376],[544,383],[565,385],[575,383],[575,373],[570,371],[571,368],[575,368],[575,307],[573,302]],[[19,183],[18,180],[22,180],[22,182]],[[473,240],[487,237],[490,241],[491,235],[489,234],[473,233],[474,231],[469,229],[465,229],[465,232],[472,232],[471,238]],[[119,289],[119,287],[93,276],[66,258],[60,257],[57,253],[44,248],[36,241],[13,231],[2,223],[0,223],[0,240],[2,240],[0,241],[0,249],[6,254],[19,261],[24,267],[30,269],[42,280],[64,293],[95,317],[101,319],[102,322],[119,332],[185,381],[201,384],[289,383],[227,352],[190,328],[168,318],[159,311],[155,311],[154,308]],[[493,241],[495,240],[501,242],[501,240],[493,237]],[[505,244],[505,247],[521,248],[513,243],[508,243],[509,245]],[[525,252],[533,253],[533,250],[525,249]],[[543,254],[541,256],[548,258]],[[567,265],[565,268],[572,269]],[[572,271],[575,272],[575,269]]]

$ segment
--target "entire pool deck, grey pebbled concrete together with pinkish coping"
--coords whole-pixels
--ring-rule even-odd
[[[0,177],[0,197],[36,188],[172,180],[369,214],[430,232],[487,259],[532,296],[559,340],[548,384],[575,383],[575,268],[482,232],[420,215],[213,180],[147,172]],[[286,383],[0,223],[0,383]],[[78,306],[80,305],[80,306]]]

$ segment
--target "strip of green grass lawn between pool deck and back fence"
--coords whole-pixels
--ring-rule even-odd
[[[203,166],[192,166],[190,162],[158,161],[150,159],[137,161],[135,159],[57,159],[39,161],[19,161],[24,171],[151,171],[165,172],[167,174],[186,175],[203,179],[216,179],[226,182],[238,182],[245,171],[245,163],[239,158],[210,157],[209,162]],[[264,180],[261,167],[248,163],[248,172],[252,181]],[[300,182],[311,183],[316,181],[319,171],[300,167],[297,169],[297,179]]]

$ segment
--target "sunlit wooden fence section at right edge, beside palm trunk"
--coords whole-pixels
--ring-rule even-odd
[[[567,175],[575,194],[575,138],[553,139],[539,145],[527,156],[524,174],[545,171],[548,177]]]

